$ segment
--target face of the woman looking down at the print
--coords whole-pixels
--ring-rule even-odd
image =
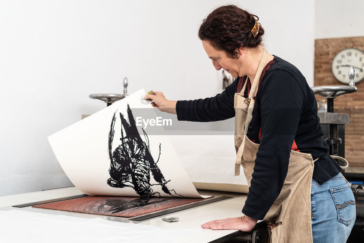
[[[240,67],[242,66],[240,59],[229,58],[225,51],[216,50],[205,40],[202,41],[202,46],[207,56],[212,60],[212,64],[216,70],[223,68],[223,70],[231,74],[234,78],[239,77]]]

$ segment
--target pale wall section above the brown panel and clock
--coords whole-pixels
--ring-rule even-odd
[[[363,0],[316,0],[315,39],[364,36]]]

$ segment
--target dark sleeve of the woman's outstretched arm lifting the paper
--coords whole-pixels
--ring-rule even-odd
[[[221,121],[235,116],[234,94],[238,78],[221,94],[205,99],[177,101],[176,111],[179,121]]]

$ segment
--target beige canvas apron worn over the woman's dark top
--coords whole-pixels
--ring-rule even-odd
[[[267,56],[268,52],[264,50],[257,74],[250,89],[249,97],[244,98],[244,90],[247,82],[245,82],[242,89],[243,93],[236,93],[234,96],[234,108],[236,112],[234,138],[237,150],[235,175],[240,174],[240,165],[242,165],[249,187],[259,144],[255,144],[249,140],[246,136],[248,129],[245,128],[248,128],[252,120],[253,98]],[[341,157],[335,158],[343,159]],[[344,161],[347,163],[346,160]],[[271,243],[312,242],[311,180],[313,163],[311,154],[291,150],[288,173],[282,190],[263,219],[268,223]],[[347,166],[344,168],[347,168]]]

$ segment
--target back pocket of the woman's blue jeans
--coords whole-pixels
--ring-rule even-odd
[[[330,193],[336,205],[337,219],[339,222],[349,225],[356,213],[355,198],[350,185],[330,188]]]

